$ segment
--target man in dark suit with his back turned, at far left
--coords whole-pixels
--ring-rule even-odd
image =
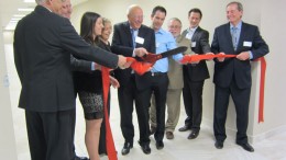
[[[57,15],[65,0],[36,2],[14,31],[19,107],[25,110],[31,159],[72,160],[75,94],[67,53],[110,68],[127,67],[127,59],[85,43],[69,20]]]

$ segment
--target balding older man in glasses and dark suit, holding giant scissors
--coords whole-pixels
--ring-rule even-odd
[[[125,57],[141,57],[146,53],[155,53],[154,31],[142,24],[143,11],[139,5],[130,5],[128,21],[114,25],[111,50]],[[139,58],[140,59],[140,58]],[[120,82],[118,100],[121,114],[121,130],[125,139],[122,155],[128,155],[133,147],[134,126],[132,124],[133,101],[138,113],[140,140],[139,144],[144,153],[150,153],[150,79],[151,73],[136,75],[131,69],[114,70],[116,78]]]

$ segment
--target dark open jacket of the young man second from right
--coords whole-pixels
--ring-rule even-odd
[[[186,37],[187,33],[188,33],[187,30],[185,30],[182,35]],[[196,46],[191,47],[191,50],[194,53],[199,55],[210,53],[208,31],[202,30],[201,27],[198,26],[191,37],[190,43],[196,43]],[[202,81],[209,78],[209,70],[206,60],[200,60],[200,62],[196,65],[188,64],[186,65],[186,70],[188,72],[189,80],[191,81]]]

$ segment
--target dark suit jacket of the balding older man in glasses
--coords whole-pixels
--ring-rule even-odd
[[[133,53],[133,41],[131,35],[131,28],[129,22],[122,22],[114,25],[114,32],[112,37],[111,50],[118,55],[123,55],[125,57],[132,57]],[[155,53],[155,33],[152,28],[141,25],[138,33],[139,37],[144,38],[143,44],[136,43],[138,47],[144,47],[148,53]],[[136,57],[140,60],[139,57]],[[117,69],[114,70],[116,78],[119,80],[122,87],[129,83],[131,78],[131,69]],[[148,88],[151,80],[150,73],[144,73],[139,76],[135,73],[136,88],[143,90]]]

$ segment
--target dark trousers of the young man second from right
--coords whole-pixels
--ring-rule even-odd
[[[188,76],[184,76],[183,100],[187,118],[185,125],[193,130],[200,130],[202,116],[202,81],[190,81]]]

